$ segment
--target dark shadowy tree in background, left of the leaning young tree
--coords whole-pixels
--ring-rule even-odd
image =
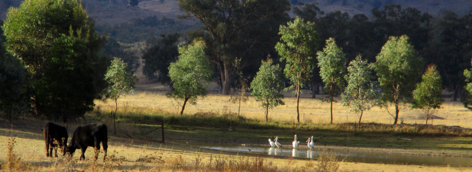
[[[169,65],[177,60],[177,41],[179,34],[161,35],[146,41],[148,44],[143,54],[143,74],[148,79],[158,79],[162,84],[171,84]]]

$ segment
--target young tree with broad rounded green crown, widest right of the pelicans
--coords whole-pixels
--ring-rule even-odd
[[[391,36],[372,63],[382,87],[381,100],[395,105],[395,121],[399,106],[412,98],[415,84],[421,75],[422,59],[408,42],[408,36]]]

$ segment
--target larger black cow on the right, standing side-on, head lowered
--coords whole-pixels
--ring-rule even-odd
[[[103,160],[107,156],[108,149],[108,129],[105,124],[87,124],[84,126],[79,126],[75,129],[72,139],[70,140],[69,145],[67,146],[67,152],[72,155],[76,149],[80,148],[82,150],[82,155],[80,160],[85,160],[85,151],[87,147],[94,147],[96,150],[100,150],[100,142],[103,146],[103,151],[105,155]],[[98,154],[95,155],[95,159],[98,158]]]

